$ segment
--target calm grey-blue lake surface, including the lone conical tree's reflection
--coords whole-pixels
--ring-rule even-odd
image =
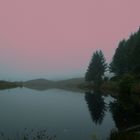
[[[0,90],[0,132],[12,137],[25,129],[47,129],[56,140],[106,140],[115,128],[108,108],[113,100],[61,89]]]

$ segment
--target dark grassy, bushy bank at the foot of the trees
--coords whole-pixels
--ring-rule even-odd
[[[94,82],[83,82],[77,86],[85,90],[95,90]],[[140,80],[128,74],[122,77],[113,77],[110,80],[103,80],[100,89],[113,94],[140,95]]]

